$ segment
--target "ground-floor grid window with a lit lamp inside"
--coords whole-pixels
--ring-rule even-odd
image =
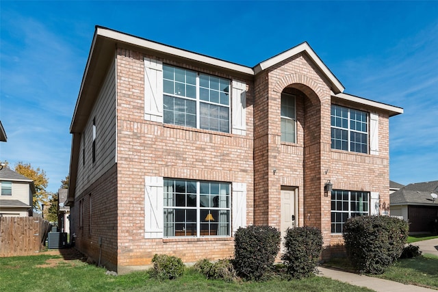
[[[229,236],[230,184],[164,178],[164,237]]]

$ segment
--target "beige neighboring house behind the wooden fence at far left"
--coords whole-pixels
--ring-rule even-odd
[[[0,216],[32,216],[34,181],[9,168],[0,170]]]

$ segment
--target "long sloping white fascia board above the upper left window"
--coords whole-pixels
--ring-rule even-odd
[[[168,55],[176,55],[178,57],[183,57],[185,59],[191,59],[196,62],[202,62],[206,64],[211,64],[212,66],[218,66],[221,68],[226,68],[228,70],[233,70],[241,72],[247,75],[254,75],[253,68],[242,66],[239,64],[234,64],[231,62],[226,62],[221,59],[215,59],[213,57],[208,57],[206,55],[201,55],[198,53],[193,53],[190,51],[185,51],[175,47],[169,47],[165,44],[159,44],[157,42],[152,42],[150,40],[145,40],[144,38],[137,38],[135,36],[130,36],[128,34],[123,34],[119,31],[113,31],[111,29],[105,29],[103,27],[97,27],[97,36],[103,36],[105,38],[112,38],[119,42],[125,42],[127,44],[132,44],[134,46],[143,47],[145,49],[150,49],[153,51],[159,51],[161,53],[166,53]]]

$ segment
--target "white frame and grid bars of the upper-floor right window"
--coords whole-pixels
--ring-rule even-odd
[[[342,150],[342,151],[348,151],[348,152],[355,152],[355,153],[361,153],[361,154],[366,154],[366,155],[369,155],[370,154],[370,113],[369,112],[367,112],[367,111],[362,111],[362,110],[360,110],[360,109],[353,109],[353,108],[350,108],[350,107],[344,107],[344,106],[342,106],[342,105],[336,105],[336,104],[331,104],[331,111],[333,110],[333,107],[340,107],[340,108],[342,108],[342,109],[346,109],[347,111],[348,111],[348,114],[347,114],[347,117],[346,117],[346,119],[347,119],[347,128],[343,128],[343,127],[339,127],[339,126],[334,126],[333,124],[332,124],[332,122],[330,123],[330,131],[331,131],[331,149],[332,150]],[[363,113],[363,114],[365,114],[366,115],[366,132],[363,132],[363,131],[357,131],[357,130],[353,130],[353,129],[351,129],[351,122],[352,122],[352,118],[351,118],[351,111],[359,111],[359,112],[361,112],[361,113]],[[335,117],[335,118],[342,118],[342,117],[339,117],[339,116],[333,116],[333,114],[330,114],[330,118],[331,118],[331,120],[332,120],[332,118],[333,117]],[[339,129],[339,130],[342,130],[342,131],[347,131],[347,148],[348,149],[338,149],[338,148],[334,148],[333,147],[333,129]],[[366,152],[359,152],[359,151],[355,151],[355,150],[351,150],[351,143],[352,143],[352,141],[351,141],[351,133],[360,133],[360,134],[365,134],[366,135],[366,142],[367,142],[367,144],[366,144]],[[339,139],[337,139],[337,140],[339,140]],[[355,142],[355,143],[357,143],[357,142]]]

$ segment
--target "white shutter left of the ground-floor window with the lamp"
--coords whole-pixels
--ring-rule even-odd
[[[163,185],[162,177],[144,178],[144,238],[163,238]]]

